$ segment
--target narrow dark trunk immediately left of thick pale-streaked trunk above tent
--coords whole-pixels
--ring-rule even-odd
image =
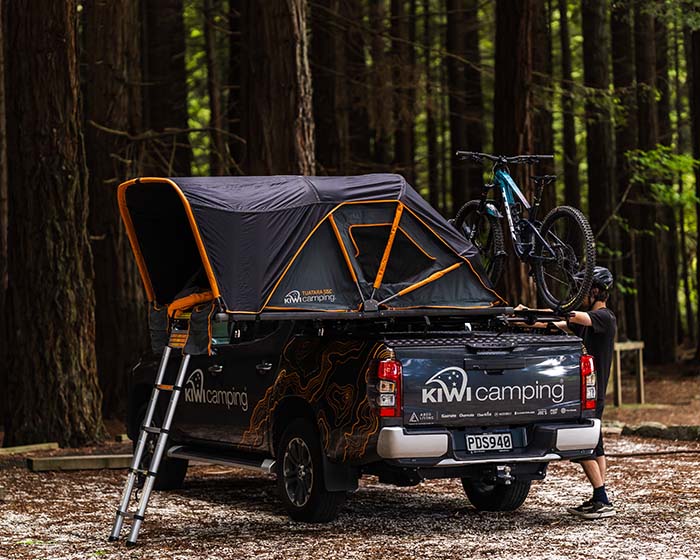
[[[228,121],[228,152],[232,173],[243,173],[241,167],[245,159],[245,140],[241,136],[241,61],[243,43],[241,40],[241,11],[245,0],[229,0],[228,29],[228,99],[226,120]]]

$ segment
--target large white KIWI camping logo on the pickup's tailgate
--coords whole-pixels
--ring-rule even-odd
[[[564,400],[564,382],[540,384],[535,381],[529,385],[503,385],[477,387],[472,391],[467,386],[467,372],[460,367],[448,367],[438,371],[425,382],[421,400],[427,403],[515,401],[525,404],[530,400],[549,399],[555,404]]]

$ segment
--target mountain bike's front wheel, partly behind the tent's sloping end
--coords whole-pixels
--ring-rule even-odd
[[[454,226],[479,250],[481,264],[493,285],[501,279],[506,258],[503,228],[498,218],[479,212],[480,202],[470,200],[454,219]]]

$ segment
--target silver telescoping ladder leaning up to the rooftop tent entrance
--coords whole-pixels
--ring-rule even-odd
[[[190,354],[183,353],[182,362],[180,363],[180,368],[178,370],[175,383],[173,385],[163,384],[165,370],[167,369],[168,360],[172,350],[174,348],[184,347],[184,341],[182,339],[183,334],[186,339],[186,333],[176,332],[173,330],[170,336],[170,341],[163,350],[163,357],[161,358],[160,365],[158,366],[158,374],[156,375],[156,381],[153,385],[153,391],[151,392],[151,399],[148,402],[148,408],[146,410],[143,426],[141,426],[141,430],[139,432],[139,439],[134,451],[134,457],[131,461],[129,475],[126,479],[126,485],[124,486],[119,508],[117,509],[114,525],[112,526],[112,532],[109,535],[110,541],[116,541],[119,539],[119,535],[126,519],[132,520],[131,530],[126,540],[127,546],[134,546],[136,544],[136,539],[139,536],[139,530],[141,529],[141,524],[143,523],[144,516],[146,514],[146,507],[148,507],[148,500],[151,496],[151,492],[153,491],[156,476],[158,475],[158,468],[160,467],[163,454],[165,453],[165,447],[168,442],[168,434],[170,432],[173,417],[175,416],[177,401],[180,397],[180,392],[182,391],[182,385],[187,372],[187,365],[190,361]],[[156,405],[158,402],[158,397],[162,392],[170,392],[170,401],[168,402],[168,408],[165,412],[163,424],[161,426],[155,426],[154,417],[156,416]],[[158,439],[148,470],[143,470],[140,468],[141,460],[143,459],[146,443],[150,434],[157,435]],[[132,495],[136,489],[136,481],[139,476],[145,476],[143,492],[140,499],[137,498],[138,503],[136,510],[130,511],[129,504],[131,503]]]

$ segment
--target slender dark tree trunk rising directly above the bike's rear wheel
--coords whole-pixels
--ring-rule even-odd
[[[574,118],[574,82],[571,69],[571,40],[567,0],[559,0],[559,41],[561,43],[561,110],[564,150],[564,201],[581,207],[581,183],[576,153],[576,121]]]

